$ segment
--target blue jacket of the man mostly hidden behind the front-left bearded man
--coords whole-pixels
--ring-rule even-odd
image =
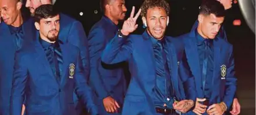
[[[88,40],[86,33],[84,32],[83,25],[75,20],[72,17],[67,16],[66,14],[61,13],[60,14],[60,31],[59,31],[59,39],[63,43],[70,43],[74,46],[79,47],[80,53],[81,53],[81,60],[83,62],[83,68],[85,71],[84,77],[88,79],[89,76],[89,70],[90,70],[90,58],[88,54]],[[34,21],[31,21],[31,23],[34,26]],[[33,39],[38,39],[35,37],[35,33],[37,30],[35,27],[31,29],[31,34],[33,34]],[[74,102],[75,105],[79,102],[79,99],[76,95],[74,95]],[[81,103],[80,103],[81,104]],[[80,105],[79,104],[79,105]],[[77,106],[78,110],[80,111],[81,108]]]

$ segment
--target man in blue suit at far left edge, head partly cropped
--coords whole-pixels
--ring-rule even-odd
[[[0,17],[3,19],[0,24],[0,115],[10,112],[15,51],[32,39],[33,21],[24,20],[21,8],[22,2],[18,0],[0,0]]]

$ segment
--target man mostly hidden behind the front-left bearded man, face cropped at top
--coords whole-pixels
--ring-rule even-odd
[[[26,7],[30,9],[31,16],[34,15],[34,10],[40,6],[45,4],[52,4],[51,0],[27,0],[26,1]],[[90,68],[90,62],[89,62],[89,54],[88,54],[88,40],[86,33],[84,32],[83,25],[75,20],[72,17],[67,16],[66,14],[60,13],[61,17],[61,28],[59,32],[59,39],[62,40],[64,43],[70,43],[74,46],[79,47],[80,53],[81,53],[81,60],[83,62],[83,68],[85,71],[84,77],[88,79],[89,76],[89,68]],[[33,23],[34,24],[34,23]],[[32,31],[36,31],[34,28],[31,30],[31,33],[34,33]],[[81,111],[81,102],[79,103],[79,99],[77,98],[77,95],[74,95],[74,102],[77,105],[77,110]]]

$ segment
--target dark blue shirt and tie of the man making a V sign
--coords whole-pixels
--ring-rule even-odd
[[[170,99],[170,73],[166,61],[166,54],[168,53],[167,47],[165,45],[164,38],[162,40],[157,40],[152,36],[148,35],[152,41],[154,56],[155,56],[155,73],[156,73],[156,85],[155,85],[155,106],[163,107],[164,103],[168,103],[168,98]],[[167,106],[169,107],[169,106]]]

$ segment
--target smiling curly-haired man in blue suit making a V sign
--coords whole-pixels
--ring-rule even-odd
[[[147,29],[143,35],[130,35],[140,15]],[[165,0],[145,0],[134,16],[134,7],[123,28],[109,42],[102,54],[106,64],[129,62],[131,81],[122,114],[186,113],[194,106],[195,86],[191,76],[178,77],[186,63],[177,60],[180,40],[164,36],[169,23],[169,5]],[[177,49],[176,49],[177,48]],[[179,85],[186,88],[186,99],[180,100]],[[179,101],[179,102],[176,102]]]

